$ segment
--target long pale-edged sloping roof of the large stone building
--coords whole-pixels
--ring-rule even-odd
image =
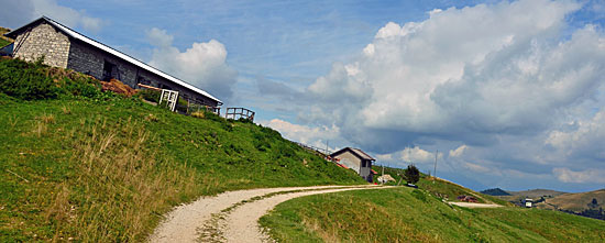
[[[76,40],[82,41],[82,42],[85,42],[85,43],[87,43],[87,44],[89,44],[89,45],[92,45],[92,46],[95,46],[95,47],[97,47],[97,48],[99,48],[99,49],[101,49],[101,51],[103,51],[103,52],[106,52],[106,53],[109,53],[109,54],[111,54],[111,55],[113,55],[113,56],[116,56],[116,57],[118,57],[118,58],[121,58],[121,59],[123,59],[123,60],[125,60],[125,62],[128,62],[128,63],[131,63],[131,64],[133,64],[133,65],[135,65],[135,66],[138,66],[138,67],[141,67],[141,68],[143,68],[143,69],[145,69],[145,70],[148,70],[148,71],[151,71],[151,73],[153,73],[153,74],[156,74],[156,75],[158,75],[160,77],[163,77],[163,78],[166,78],[166,79],[168,79],[168,80],[170,80],[170,81],[174,81],[175,84],[180,85],[180,86],[183,86],[183,87],[185,87],[185,88],[187,88],[187,89],[190,89],[190,90],[194,91],[194,92],[197,92],[197,93],[202,95],[202,96],[205,96],[205,97],[208,97],[208,98],[210,98],[210,99],[212,99],[212,100],[215,100],[215,101],[217,101],[217,102],[219,102],[219,103],[222,103],[222,101],[220,101],[219,99],[215,98],[215,97],[211,96],[210,93],[208,93],[208,92],[206,92],[206,91],[204,91],[204,90],[201,90],[201,89],[199,89],[199,88],[197,88],[197,87],[195,87],[195,86],[193,86],[193,85],[190,85],[190,84],[188,84],[188,82],[186,82],[186,81],[183,81],[183,80],[180,80],[180,79],[178,79],[178,78],[175,78],[175,77],[173,77],[173,76],[170,76],[170,75],[167,75],[167,74],[165,74],[164,71],[161,71],[161,70],[156,69],[155,67],[152,67],[152,66],[150,66],[150,65],[147,65],[147,64],[145,64],[145,63],[143,63],[143,62],[141,62],[141,60],[138,60],[138,59],[135,59],[135,58],[133,58],[133,57],[131,57],[131,56],[129,56],[129,55],[127,55],[127,54],[123,54],[123,53],[121,53],[121,52],[119,52],[119,51],[117,51],[117,49],[114,49],[114,48],[111,48],[111,47],[109,47],[109,46],[107,46],[107,45],[105,45],[105,44],[102,44],[102,43],[100,43],[100,42],[97,42],[97,41],[95,41],[95,40],[92,40],[92,38],[89,38],[89,37],[82,35],[82,34],[80,34],[80,33],[78,33],[78,32],[76,32],[76,31],[74,31],[74,30],[72,30],[72,29],[69,29],[69,27],[67,27],[67,26],[65,26],[65,25],[63,25],[63,24],[61,24],[61,23],[58,23],[58,22],[56,22],[56,21],[54,21],[54,20],[52,20],[52,19],[50,19],[50,18],[47,18],[47,16],[41,16],[40,19],[36,19],[36,20],[32,21],[32,22],[29,23],[29,24],[25,24],[25,25],[23,25],[23,26],[16,29],[16,30],[14,30],[14,31],[11,31],[10,33],[4,34],[4,36],[15,38],[16,35],[18,35],[18,33],[22,32],[25,27],[28,27],[28,26],[32,25],[33,23],[36,23],[37,21],[41,21],[41,20],[42,20],[42,21],[46,21],[47,23],[52,24],[53,26],[55,26],[56,29],[61,30],[63,33],[67,34],[67,35],[68,35],[69,37],[72,37],[72,38],[76,38]]]

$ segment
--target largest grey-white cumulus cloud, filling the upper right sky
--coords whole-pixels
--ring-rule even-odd
[[[579,7],[502,2],[388,23],[360,57],[334,64],[308,91],[336,110],[331,118],[353,141],[348,131],[360,125],[407,142],[429,134],[470,144],[542,131],[558,111],[593,95],[605,74],[601,32],[586,26],[558,41]]]

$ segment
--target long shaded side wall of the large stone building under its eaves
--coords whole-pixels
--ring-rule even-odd
[[[101,52],[79,41],[72,42],[67,68],[102,79],[103,65],[106,60],[118,66],[118,70],[120,71],[120,81],[132,88],[139,88],[138,84],[141,81],[144,85],[150,85],[157,88],[177,90],[179,97],[185,100],[191,99],[196,100],[198,103],[211,107],[218,106],[215,100],[190,91],[189,89],[186,89],[185,87],[179,86],[160,75],[153,74],[120,58],[116,58],[112,55]]]

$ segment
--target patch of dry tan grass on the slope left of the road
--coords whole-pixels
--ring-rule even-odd
[[[145,146],[150,134],[136,122],[109,126],[97,120],[79,132],[87,134],[74,143],[80,168],[47,211],[59,222],[55,240],[142,241],[170,201],[199,195],[204,183],[212,186],[187,165],[162,161]]]

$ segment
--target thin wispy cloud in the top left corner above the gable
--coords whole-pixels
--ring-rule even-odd
[[[81,26],[91,32],[101,30],[106,24],[101,19],[89,16],[84,10],[59,5],[55,0],[8,1],[0,9],[0,22],[10,27],[19,27],[42,15],[67,26]]]

